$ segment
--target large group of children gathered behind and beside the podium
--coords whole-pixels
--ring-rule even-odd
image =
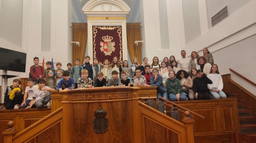
[[[174,56],[169,59],[164,57],[161,64],[158,57],[153,57],[152,64],[145,57],[142,65],[134,57],[131,66],[127,60],[120,62],[116,56],[111,63],[105,59],[103,65],[97,58],[93,59],[93,64],[89,61],[90,57],[86,56],[85,63],[80,65],[80,60],[75,59],[75,66],[68,63],[68,69],[64,71],[60,62],[56,63],[57,70],[51,68],[51,62],[46,62],[47,69],[42,69],[38,64],[39,58],[35,57],[25,94],[19,87],[21,81],[15,79],[6,90],[5,108],[14,108],[15,104],[20,104],[21,108],[31,108],[33,105],[37,108],[47,107],[51,99],[50,90],[105,86],[157,86],[157,98],[161,96],[171,101],[210,99],[211,95],[216,99],[226,98],[221,91],[223,83],[217,65],[212,65],[210,74],[205,75],[201,69],[192,68],[190,73],[181,69]]]

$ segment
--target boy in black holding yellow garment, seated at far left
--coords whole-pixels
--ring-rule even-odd
[[[12,86],[7,87],[5,92],[5,99],[3,105],[5,106],[5,109],[14,109],[14,106],[16,104],[21,104],[24,93],[22,89],[19,87],[21,84],[20,79],[15,79],[12,82]]]

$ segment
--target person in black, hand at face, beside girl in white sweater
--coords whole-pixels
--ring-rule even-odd
[[[193,91],[197,100],[211,99],[207,84],[213,82],[201,71],[197,70],[197,77],[193,81]]]

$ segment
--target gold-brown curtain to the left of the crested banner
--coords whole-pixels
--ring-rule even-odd
[[[83,64],[87,45],[87,23],[72,23],[72,40],[80,42],[80,46],[72,44],[72,65],[75,65],[75,59],[80,59],[80,64]]]

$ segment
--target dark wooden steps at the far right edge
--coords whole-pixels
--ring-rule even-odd
[[[242,143],[256,143],[256,116],[244,101],[238,101],[238,115]]]

